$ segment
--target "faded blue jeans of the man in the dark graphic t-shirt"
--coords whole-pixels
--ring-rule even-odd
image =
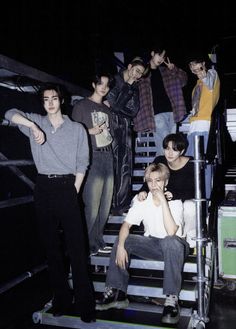
[[[90,251],[96,252],[105,246],[103,231],[110,213],[113,185],[112,152],[94,151],[83,189]]]

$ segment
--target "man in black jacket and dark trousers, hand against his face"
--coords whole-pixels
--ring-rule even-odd
[[[114,126],[115,182],[112,213],[121,215],[127,211],[131,201],[132,174],[132,119],[139,111],[137,81],[145,71],[144,62],[137,57],[115,75],[114,87],[109,91],[106,105],[111,108]]]

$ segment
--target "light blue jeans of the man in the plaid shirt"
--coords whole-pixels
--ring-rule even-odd
[[[159,113],[156,114],[154,118],[156,130],[153,136],[155,139],[156,154],[163,155],[163,139],[169,134],[176,133],[176,123],[174,122],[173,112]]]

